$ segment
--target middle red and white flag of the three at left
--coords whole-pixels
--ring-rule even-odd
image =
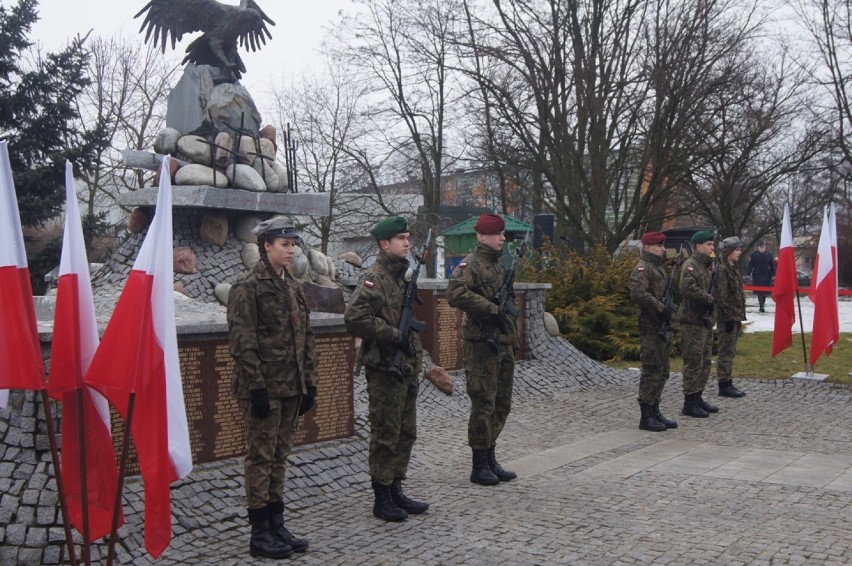
[[[83,375],[98,348],[98,325],[74,174],[68,162],[65,163],[65,199],[65,232],[47,389],[53,399],[62,402],[62,482],[71,524],[83,534],[86,531],[81,456],[84,456],[91,542],[108,535],[112,529],[118,468],[112,449],[109,405],[100,393],[83,385]],[[78,394],[82,406],[78,406]],[[124,517],[120,516],[119,526],[123,523]]]

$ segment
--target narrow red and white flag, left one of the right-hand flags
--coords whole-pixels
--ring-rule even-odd
[[[793,230],[790,227],[790,206],[785,204],[784,221],[781,225],[781,248],[778,250],[775,286],[772,288],[772,300],[775,301],[773,356],[777,356],[793,345],[793,324],[796,322],[794,298],[797,288],[798,277],[796,276],[796,255],[793,251]]]

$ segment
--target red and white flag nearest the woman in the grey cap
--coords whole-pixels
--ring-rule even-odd
[[[172,271],[172,193],[163,159],[157,212],[84,382],[127,419],[145,484],[145,548],[159,557],[171,541],[169,484],[192,470],[183,401]]]

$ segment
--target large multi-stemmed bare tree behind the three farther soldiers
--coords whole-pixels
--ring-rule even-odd
[[[758,29],[738,4],[492,0],[489,12],[466,0],[467,67],[488,143],[506,148],[492,158],[531,171],[575,241],[614,249],[660,227],[693,161],[690,121]]]

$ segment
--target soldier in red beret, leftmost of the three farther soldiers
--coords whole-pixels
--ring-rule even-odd
[[[646,232],[641,240],[642,258],[630,274],[630,299],[639,306],[639,338],[642,371],[639,375],[639,428],[661,431],[677,428],[677,421],[660,412],[663,387],[669,379],[672,354],[672,313],[663,303],[668,278],[663,269],[665,235]]]

